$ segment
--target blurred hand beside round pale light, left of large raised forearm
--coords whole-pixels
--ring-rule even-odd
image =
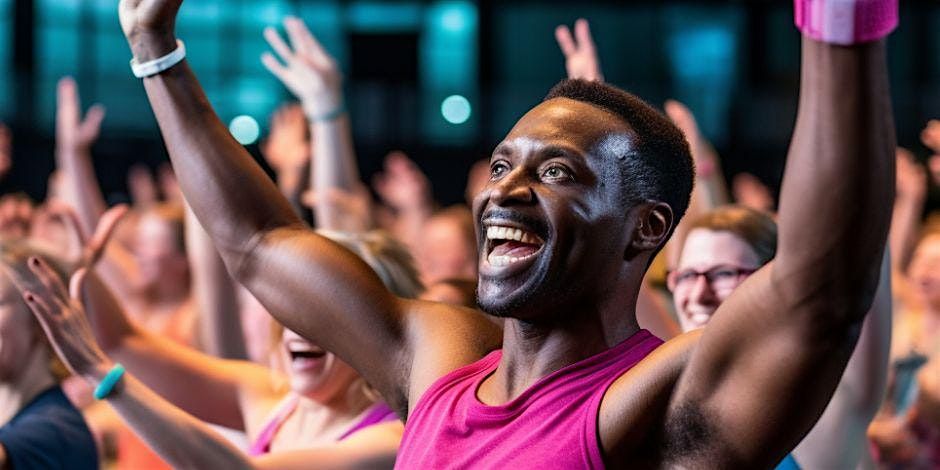
[[[261,154],[279,175],[299,172],[310,162],[309,127],[298,104],[286,104],[271,116],[271,133],[261,146]]]

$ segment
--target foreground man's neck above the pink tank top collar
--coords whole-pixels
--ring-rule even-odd
[[[639,330],[633,311],[631,305],[617,315],[582,312],[573,324],[552,326],[506,319],[502,358],[480,385],[479,399],[505,403],[543,377],[619,344]]]

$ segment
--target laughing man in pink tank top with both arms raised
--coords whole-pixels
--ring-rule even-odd
[[[180,3],[121,2],[137,62],[177,49]],[[474,216],[479,303],[505,319],[500,331],[476,310],[394,297],[310,231],[186,61],[143,84],[186,199],[231,273],[407,418],[399,467],[770,467],[845,368],[893,197],[883,36],[897,1],[838,3],[841,18],[865,19],[848,32],[839,28],[851,21],[809,18],[832,10],[815,3],[825,0],[797,2],[808,37],[777,259],[721,305],[694,349],[689,337],[660,345],[634,315],[693,172],[679,130],[633,95],[563,82],[493,152]],[[315,130],[348,126],[342,103],[321,104],[308,110]]]

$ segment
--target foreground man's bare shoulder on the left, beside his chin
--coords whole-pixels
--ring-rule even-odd
[[[411,409],[437,379],[480,360],[502,344],[502,328],[485,313],[439,302],[408,301],[405,321],[412,348]]]

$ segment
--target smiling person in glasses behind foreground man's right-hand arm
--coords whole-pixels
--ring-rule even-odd
[[[687,332],[705,326],[748,276],[773,260],[777,224],[754,209],[719,207],[691,221],[681,248],[667,284],[679,323]],[[868,459],[865,431],[884,393],[891,337],[887,280],[882,269],[872,312],[832,401],[778,469],[856,468],[860,459]]]

